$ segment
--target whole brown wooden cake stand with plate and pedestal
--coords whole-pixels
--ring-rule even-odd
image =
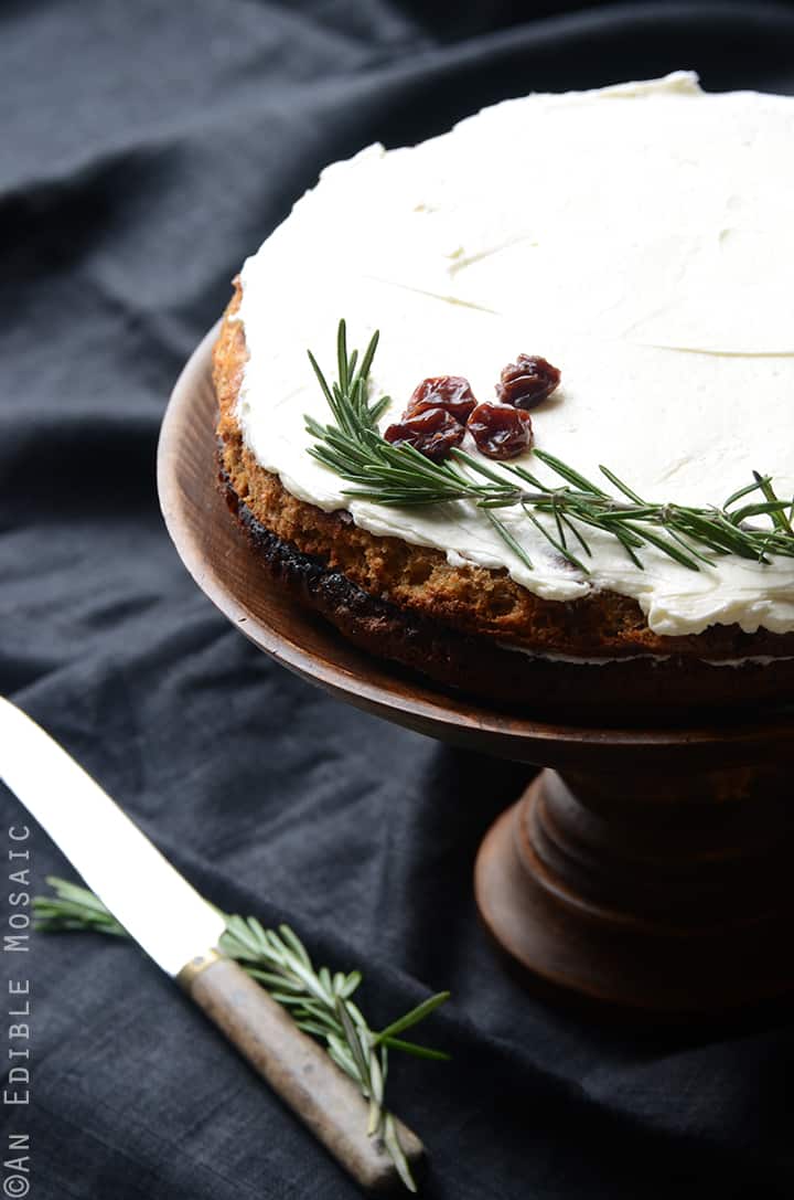
[[[546,768],[477,857],[480,912],[504,950],[571,995],[649,1013],[728,1012],[792,990],[794,715],[546,724],[357,650],[284,596],[227,510],[215,336],[185,367],[160,439],[174,544],[206,595],[283,666],[386,720]]]

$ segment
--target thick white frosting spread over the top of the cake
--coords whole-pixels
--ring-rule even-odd
[[[679,72],[506,101],[335,163],[242,270],[247,445],[300,499],[455,565],[504,566],[546,599],[633,596],[662,635],[793,630],[793,559],[696,572],[645,548],[638,570],[590,530],[584,576],[505,510],[529,570],[468,503],[351,502],[303,426],[329,419],[306,348],[332,372],[344,316],[353,344],[380,329],[384,426],[427,376],[465,376],[492,400],[503,366],[541,354],[563,384],[534,414],[535,443],[584,474],[606,463],[649,499],[709,504],[754,468],[792,494],[793,145],[794,98],[705,94]]]

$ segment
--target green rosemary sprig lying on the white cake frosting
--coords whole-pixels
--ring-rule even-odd
[[[308,352],[333,418],[329,425],[306,418],[306,428],[315,438],[308,452],[356,485],[344,493],[351,499],[398,508],[469,500],[529,570],[533,562],[500,521],[500,509],[521,509],[554,551],[584,574],[589,574],[584,558],[593,558],[589,529],[619,541],[640,570],[638,551],[645,546],[655,546],[692,571],[724,554],[758,563],[769,563],[775,554],[794,557],[794,499],[781,499],[771,476],[758,472],[721,505],[660,504],[638,496],[608,467],[600,470],[613,492],[543,450],[536,449],[534,455],[553,473],[546,480],[517,463],[501,463],[497,472],[459,446],[452,446],[445,461],[435,462],[413,445],[392,445],[378,427],[390,397],[369,401],[378,340],[374,334],[361,358],[356,350],[349,353],[341,320],[333,383]],[[752,517],[768,517],[768,527],[750,523]]]

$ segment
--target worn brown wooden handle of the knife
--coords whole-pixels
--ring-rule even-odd
[[[180,983],[206,1016],[281,1096],[366,1192],[387,1195],[399,1176],[383,1140],[367,1135],[369,1105],[325,1050],[301,1032],[231,959],[188,964]],[[395,1121],[411,1166],[425,1153],[416,1134]]]

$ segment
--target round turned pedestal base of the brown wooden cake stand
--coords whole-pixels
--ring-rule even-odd
[[[546,769],[482,844],[480,912],[547,984],[624,1008],[720,1013],[794,990],[789,780]]]

